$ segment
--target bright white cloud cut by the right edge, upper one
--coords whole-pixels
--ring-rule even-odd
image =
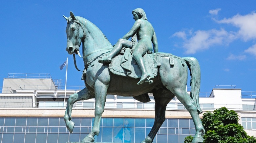
[[[247,15],[237,14],[232,18],[224,18],[220,21],[216,20],[216,22],[238,27],[238,36],[245,41],[256,39],[256,13],[254,12]]]

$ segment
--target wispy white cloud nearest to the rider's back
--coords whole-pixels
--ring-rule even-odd
[[[173,34],[173,36],[183,39],[184,37],[181,37],[180,34],[182,32],[176,32],[175,34]],[[189,36],[191,36],[189,39],[187,39],[186,37],[185,39],[183,39],[183,47],[186,49],[185,54],[195,54],[197,51],[208,49],[210,46],[213,45],[222,45],[224,43],[229,44],[236,38],[233,33],[229,33],[224,29],[211,29],[207,31],[198,30],[194,33],[191,33]]]

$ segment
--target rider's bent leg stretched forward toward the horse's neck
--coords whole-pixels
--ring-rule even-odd
[[[98,62],[110,63],[111,59],[121,51],[122,47],[132,48],[133,43],[132,41],[126,39],[118,39],[117,43],[115,44],[114,48],[109,52],[108,56],[102,57],[102,59],[99,59]]]

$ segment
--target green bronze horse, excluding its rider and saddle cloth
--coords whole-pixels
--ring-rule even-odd
[[[66,51],[70,55],[77,54],[82,43],[82,54],[85,64],[83,75],[86,88],[70,95],[67,101],[64,121],[70,133],[73,132],[75,124],[71,118],[72,107],[77,101],[91,98],[96,99],[95,120],[92,131],[82,140],[82,142],[94,142],[94,136],[99,135],[100,119],[104,111],[107,94],[132,96],[139,101],[143,101],[144,97],[148,97],[148,93],[153,93],[155,99],[155,121],[150,133],[141,143],[153,142],[154,137],[165,120],[166,106],[174,96],[189,111],[195,124],[196,134],[192,143],[203,143],[202,135],[205,131],[199,118],[199,114],[202,113],[199,106],[201,75],[196,58],[173,56],[174,65],[170,65],[170,58],[168,56],[160,56],[160,59],[157,61],[160,63],[160,66],[157,66],[158,75],[153,78],[153,83],[137,85],[139,78],[114,74],[109,70],[109,64],[98,62],[98,59],[108,54],[113,46],[96,25],[85,18],[74,16],[72,12],[70,12],[70,17],[64,16],[64,18],[67,20]],[[186,91],[188,70],[185,65],[188,66],[191,75],[190,95]]]

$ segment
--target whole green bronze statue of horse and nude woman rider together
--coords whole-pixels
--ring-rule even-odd
[[[195,124],[192,143],[203,143],[204,128],[199,118],[200,66],[194,57],[178,57],[158,52],[155,30],[148,22],[143,9],[132,11],[135,20],[131,30],[113,46],[99,28],[89,20],[70,12],[67,21],[67,48],[69,54],[82,55],[85,65],[82,79],[86,88],[70,95],[64,121],[70,133],[75,123],[71,112],[77,101],[95,98],[95,120],[92,131],[82,142],[94,142],[99,135],[100,119],[107,94],[132,96],[146,103],[148,93],[155,99],[155,122],[148,136],[141,143],[152,143],[165,120],[167,104],[174,98],[185,106]],[[131,41],[128,40],[131,38]],[[154,52],[153,52],[154,51]],[[190,95],[186,91],[187,73],[190,70]]]

